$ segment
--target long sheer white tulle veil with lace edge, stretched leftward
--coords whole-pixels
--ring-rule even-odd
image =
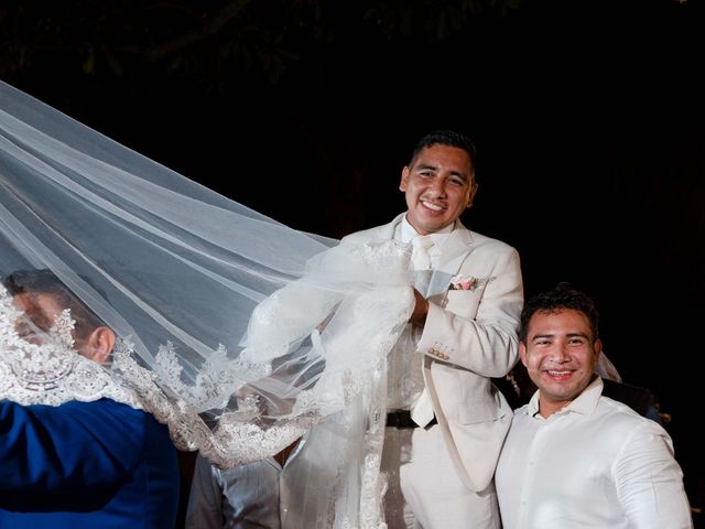
[[[23,334],[31,319],[0,288],[0,399],[111,398],[220,466],[308,432],[301,527],[383,527],[409,249],[296,231],[3,83],[0,107],[0,274],[50,270],[119,338],[97,364],[73,350],[70,311]]]

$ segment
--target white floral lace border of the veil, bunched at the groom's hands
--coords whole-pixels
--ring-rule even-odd
[[[362,435],[352,440],[364,463],[335,464],[341,465],[336,479],[343,488],[359,483],[358,499],[350,510],[351,498],[343,495],[346,514],[334,507],[329,516],[335,527],[383,529],[381,501],[387,484],[380,461],[387,355],[413,310],[408,253],[406,245],[395,241],[339,250],[330,257],[333,261],[323,263],[328,269],[317,273],[315,283],[294,281],[262,302],[251,316],[248,341],[238,356],[228,356],[219,345],[204,358],[192,384],[185,381],[187,367],[170,342],[159,347],[149,367],[135,354],[130,336],[118,339],[109,366],[80,356],[73,348],[68,312],[56,320],[42,344],[20,337],[15,322],[21,313],[3,289],[0,398],[52,406],[110,398],[152,413],[169,425],[177,449],[198,450],[221,467],[273,455],[341,411],[350,423],[364,424]],[[349,272],[350,282],[359,284],[352,292],[349,285],[343,293],[332,288],[334,278],[339,281],[340,266]],[[381,284],[369,283],[370,277],[381,278]],[[243,389],[249,381],[272,374],[273,358],[308,338],[311,354],[323,358],[325,368],[315,384],[295,391],[288,411],[271,415],[262,396]],[[355,479],[350,473],[357,474]]]

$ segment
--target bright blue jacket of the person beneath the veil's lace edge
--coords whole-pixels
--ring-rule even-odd
[[[0,528],[173,529],[178,462],[169,430],[109,399],[0,402]]]

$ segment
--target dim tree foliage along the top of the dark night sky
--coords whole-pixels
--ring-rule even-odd
[[[435,43],[519,1],[14,0],[0,8],[0,75],[53,64],[112,79],[150,71],[217,88],[246,72],[276,84],[343,40]]]

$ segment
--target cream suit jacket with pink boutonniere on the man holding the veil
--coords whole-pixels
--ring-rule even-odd
[[[343,244],[392,239],[404,215],[350,234]],[[491,483],[512,417],[490,377],[503,377],[518,359],[523,304],[519,255],[459,220],[441,251],[437,270],[477,278],[481,284],[429,298],[416,348],[424,355],[426,390],[456,471],[468,488],[480,492]]]

